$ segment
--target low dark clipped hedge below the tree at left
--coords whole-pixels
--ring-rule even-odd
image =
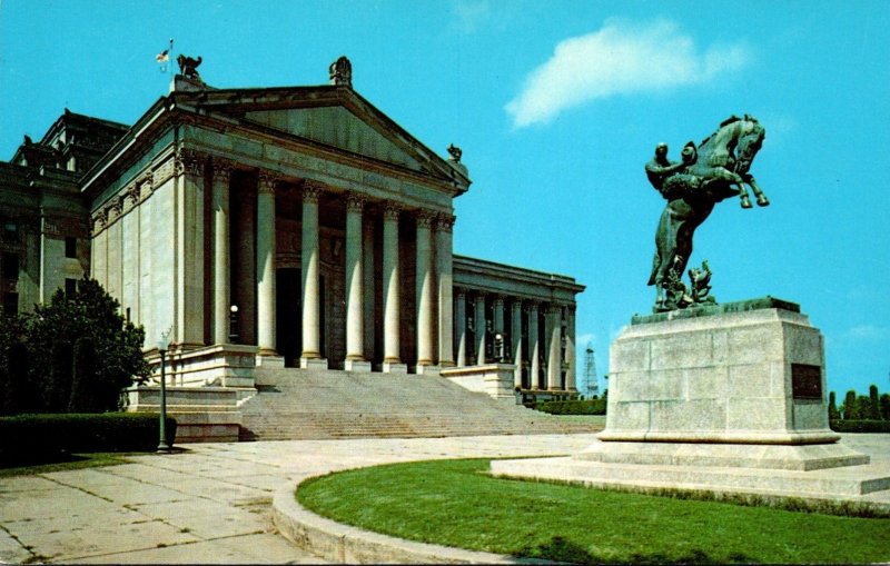
[[[176,419],[167,418],[167,443]],[[158,447],[157,414],[17,415],[0,417],[0,465],[44,461],[66,454],[152,451]]]

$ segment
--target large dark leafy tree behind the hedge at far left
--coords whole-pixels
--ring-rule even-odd
[[[118,410],[121,390],[148,377],[145,331],[125,320],[119,307],[96,280],[85,277],[71,296],[58,290],[33,315],[19,317],[29,350],[28,381],[39,391],[33,399],[38,410]],[[3,348],[4,334],[0,331],[0,374],[12,369],[6,364],[10,349]]]

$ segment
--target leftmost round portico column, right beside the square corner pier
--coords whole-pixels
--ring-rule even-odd
[[[229,178],[231,167],[214,161],[214,344],[229,341],[229,307],[231,291],[229,278]]]

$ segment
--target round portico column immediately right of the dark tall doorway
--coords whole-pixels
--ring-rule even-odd
[[[322,328],[319,312],[322,300],[318,289],[318,199],[322,187],[314,182],[303,186],[303,354],[300,367],[324,366],[313,363],[322,359]]]

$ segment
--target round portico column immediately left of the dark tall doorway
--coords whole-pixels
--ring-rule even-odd
[[[277,356],[275,312],[275,183],[261,171],[257,183],[257,346],[260,356]]]

